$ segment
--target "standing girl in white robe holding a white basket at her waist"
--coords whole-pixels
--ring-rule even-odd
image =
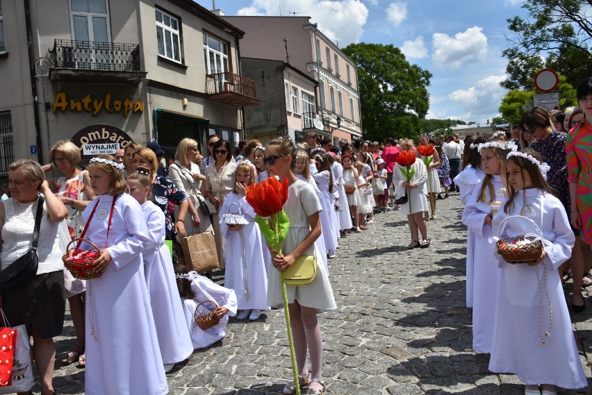
[[[235,187],[220,208],[220,231],[226,241],[224,287],[234,289],[238,299],[238,319],[259,319],[262,310],[269,310],[268,271],[263,256],[263,241],[254,221],[255,211],[247,203],[247,187],[254,180],[251,162],[238,162],[234,173]],[[229,225],[228,215],[242,215],[248,224]],[[267,247],[265,246],[265,249]],[[270,255],[271,256],[271,255]]]

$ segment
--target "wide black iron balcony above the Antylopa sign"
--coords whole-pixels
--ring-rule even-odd
[[[54,56],[52,81],[137,84],[146,76],[138,44],[55,40]]]

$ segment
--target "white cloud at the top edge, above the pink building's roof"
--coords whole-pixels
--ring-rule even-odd
[[[311,23],[339,47],[359,42],[368,20],[368,8],[357,0],[252,0],[237,15],[280,15],[280,10],[281,15],[311,17]]]

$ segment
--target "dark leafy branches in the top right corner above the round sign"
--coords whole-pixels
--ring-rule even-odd
[[[527,19],[507,19],[511,35],[506,37],[509,47],[502,54],[509,60],[509,78],[500,85],[532,89],[525,81],[534,77],[534,69],[543,67],[541,55],[547,57],[546,67],[564,74],[573,86],[592,75],[592,15],[586,15],[589,6],[592,0],[525,1],[522,8],[527,10]]]

